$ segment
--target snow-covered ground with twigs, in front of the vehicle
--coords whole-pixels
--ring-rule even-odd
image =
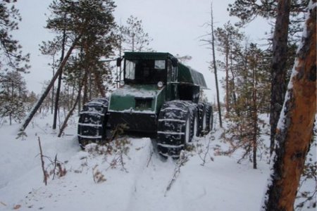
[[[228,148],[220,141],[220,129],[197,138],[194,150],[185,152],[180,165],[180,161],[160,158],[149,138],[123,139],[125,143],[108,148],[92,144],[90,150],[82,151],[75,136],[77,119],[70,120],[62,138],[51,130],[51,120],[50,115],[37,115],[26,129],[27,136],[18,139],[19,124],[0,126],[0,210],[260,209],[267,159],[259,160],[254,170],[251,162],[237,164],[239,151],[230,157],[218,155],[219,148]],[[47,186],[38,139],[47,156],[46,170],[54,169],[57,155],[67,171],[54,179],[51,174]],[[313,152],[316,158],[316,148]]]

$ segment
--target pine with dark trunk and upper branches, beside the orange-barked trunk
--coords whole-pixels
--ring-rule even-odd
[[[270,115],[271,153],[273,152],[276,125],[286,91],[287,71],[293,65],[294,45],[299,41],[298,32],[302,32],[301,25],[304,21],[308,2],[309,0],[236,0],[228,8],[230,15],[240,18],[240,25],[251,22],[258,15],[266,19],[276,18],[271,64],[271,77],[273,77]]]

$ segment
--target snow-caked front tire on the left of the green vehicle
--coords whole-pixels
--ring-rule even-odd
[[[106,139],[107,111],[108,98],[94,98],[82,108],[78,120],[78,141],[82,148]]]

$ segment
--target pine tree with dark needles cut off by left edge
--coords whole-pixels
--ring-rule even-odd
[[[11,32],[18,30],[20,13],[15,8],[16,0],[0,2],[0,115],[20,121],[25,115],[23,106],[26,88],[19,72],[27,72],[30,68],[30,55],[23,55],[22,46],[13,39]]]

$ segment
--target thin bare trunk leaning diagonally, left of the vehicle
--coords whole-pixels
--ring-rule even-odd
[[[49,82],[49,85],[46,87],[44,93],[42,94],[42,96],[39,98],[39,100],[37,101],[37,103],[35,104],[35,106],[32,108],[32,110],[30,111],[30,114],[27,115],[27,117],[25,118],[22,127],[20,128],[20,131],[24,131],[25,128],[27,127],[27,125],[31,122],[32,118],[34,117],[35,113],[37,113],[37,110],[39,109],[39,107],[42,105],[44,99],[46,98],[47,94],[49,94],[49,91],[51,90],[51,87],[53,87],[54,82],[56,81],[58,75],[60,74],[60,72],[63,70],[63,67],[66,65],[66,62],[70,56],[70,53],[72,53],[73,49],[75,48],[77,41],[80,39],[81,36],[77,37],[74,41],[73,41],[73,45],[70,46],[70,49],[68,49],[68,52],[65,56],[65,58],[63,59],[63,62],[61,63],[61,65],[59,65],[58,70],[56,71],[54,77],[51,79],[51,82]]]

